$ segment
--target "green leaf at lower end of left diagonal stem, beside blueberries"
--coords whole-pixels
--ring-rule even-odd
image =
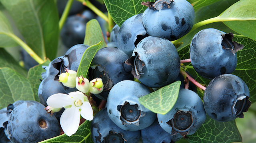
[[[38,88],[41,83],[40,79],[42,79],[42,72],[45,72],[45,69],[42,68],[42,66],[48,66],[50,63],[49,59],[45,61],[44,63],[40,65],[36,65],[35,67],[32,67],[28,71],[28,80],[32,85],[34,96],[37,102],[40,102],[38,98]]]

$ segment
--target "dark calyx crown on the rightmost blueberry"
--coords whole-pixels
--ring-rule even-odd
[[[247,112],[249,107],[251,106],[251,101],[249,101],[249,97],[246,96],[244,99],[238,99],[236,104],[234,104],[234,108],[237,110],[236,116],[238,118],[244,118],[243,112]]]

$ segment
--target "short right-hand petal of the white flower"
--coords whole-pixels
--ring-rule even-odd
[[[89,120],[89,121],[92,121],[93,119],[93,111],[92,111],[92,106],[89,102],[84,102],[82,104],[82,106],[80,106],[80,113],[81,113],[81,116],[86,119],[86,120]]]

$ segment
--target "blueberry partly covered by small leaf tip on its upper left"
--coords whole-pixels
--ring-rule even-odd
[[[160,126],[168,133],[192,135],[204,123],[206,112],[201,98],[192,90],[180,89],[178,99],[165,115],[157,114]]]

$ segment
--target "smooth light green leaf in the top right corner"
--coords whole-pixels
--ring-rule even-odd
[[[240,0],[225,10],[219,18],[240,20],[223,23],[237,33],[256,40],[256,0]]]

